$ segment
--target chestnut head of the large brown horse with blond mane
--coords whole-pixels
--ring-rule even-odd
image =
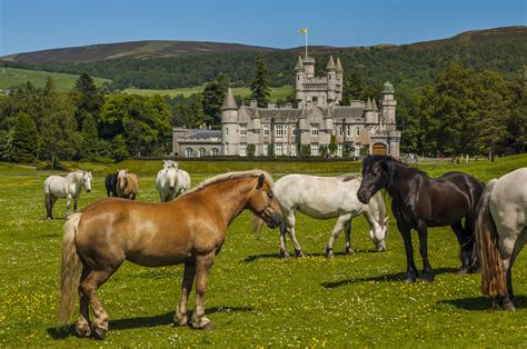
[[[257,183],[250,192],[248,208],[256,215],[255,230],[259,231],[262,223],[275,229],[281,223],[280,205],[272,193],[272,179],[269,174],[258,176]]]

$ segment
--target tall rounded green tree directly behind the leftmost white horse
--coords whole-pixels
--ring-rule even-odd
[[[53,93],[42,118],[41,149],[54,168],[59,160],[70,160],[77,152],[80,134],[74,112],[77,107],[68,94]]]

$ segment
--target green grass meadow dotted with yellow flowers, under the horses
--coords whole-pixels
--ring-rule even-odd
[[[71,168],[79,164],[70,163]],[[427,164],[437,176],[461,170],[483,180],[526,167],[527,156],[468,164]],[[95,171],[92,191],[79,206],[105,196],[103,174],[127,167],[140,174],[138,199],[157,201],[155,173],[160,161],[127,161]],[[289,172],[342,173],[358,163],[251,163],[181,161],[193,183],[227,170],[260,167],[276,177]],[[180,296],[182,267],[148,269],[126,262],[100,289],[110,317],[107,339],[98,342],[57,332],[56,306],[62,219],[44,220],[42,183],[51,172],[0,163],[0,347],[525,347],[527,329],[527,258],[515,265],[518,311],[490,309],[479,292],[479,275],[457,276],[460,266],[454,233],[429,230],[429,258],[437,272],[434,283],[401,282],[406,268],[402,239],[390,219],[387,251],[375,252],[366,221],[354,221],[355,256],[322,256],[335,220],[317,221],[299,215],[297,237],[309,257],[279,259],[278,231],[250,230],[251,215],[242,213],[229,228],[216,259],[206,296],[215,328],[198,331],[171,327]],[[56,173],[56,172],[53,172]],[[59,200],[56,217],[64,217]],[[414,247],[417,236],[414,235]],[[291,245],[288,247],[291,249]],[[336,252],[344,250],[344,238]],[[416,261],[420,265],[417,250]],[[193,309],[193,296],[189,309]],[[77,316],[72,317],[76,319]]]

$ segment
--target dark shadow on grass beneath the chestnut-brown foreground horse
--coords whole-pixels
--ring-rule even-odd
[[[252,311],[255,308],[252,307],[212,307],[205,310],[206,315],[215,313],[215,312],[245,312],[245,311]],[[129,318],[129,319],[119,319],[119,320],[110,320],[109,330],[126,330],[126,329],[133,329],[133,328],[149,328],[149,327],[157,327],[163,325],[171,325],[173,323],[172,317],[173,311],[166,312],[163,315],[157,315],[151,317],[137,317],[137,318]],[[192,317],[192,311],[187,312],[187,319],[190,323]],[[64,339],[70,336],[77,336],[74,325],[67,326],[61,329],[57,329],[54,327],[48,328],[48,333],[53,339]]]

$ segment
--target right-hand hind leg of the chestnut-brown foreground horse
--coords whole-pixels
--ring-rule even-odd
[[[117,269],[117,268],[116,268]],[[79,286],[82,297],[86,297],[91,310],[93,310],[93,322],[91,332],[98,339],[105,339],[108,332],[108,313],[97,298],[97,289],[110,278],[115,269],[91,270],[88,277]]]

